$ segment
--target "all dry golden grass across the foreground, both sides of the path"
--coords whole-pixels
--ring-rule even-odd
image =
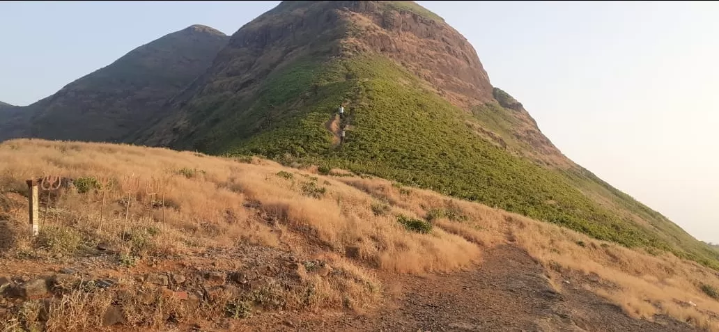
[[[42,175],[113,179],[116,185],[104,192],[61,196],[45,218],[46,240],[41,246],[27,236],[27,208],[6,209],[10,223],[4,234],[14,236],[2,235],[0,244],[14,252],[72,254],[81,251],[82,244],[107,241],[126,256],[189,255],[247,242],[289,249],[298,257],[330,262],[342,277],[301,272],[303,285],[313,290],[311,296],[278,296],[314,310],[337,305],[362,310],[383,292],[373,269],[450,271],[480,262],[482,249],[509,240],[556,274],[595,273],[618,285],[594,291],[630,315],[651,319],[655,313],[666,313],[719,331],[712,318],[712,313],[719,313],[719,302],[700,290],[701,285],[718,287],[719,278],[693,262],[626,249],[429,190],[352,177],[340,170],[331,174],[342,176],[316,171],[257,158],[230,160],[160,148],[4,142],[0,194],[6,197],[16,195],[12,192],[24,195],[24,181]],[[434,229],[430,234],[413,233],[398,223],[399,215],[429,218]],[[131,240],[123,241],[127,236],[122,234],[130,234]],[[348,247],[359,248],[359,259],[344,257]],[[690,301],[696,306],[682,304]],[[71,314],[85,309],[63,310]],[[78,326],[96,323],[88,316]]]

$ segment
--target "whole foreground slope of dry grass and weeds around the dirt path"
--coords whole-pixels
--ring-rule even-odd
[[[336,176],[324,176],[312,168],[266,160],[238,162],[170,149],[42,139],[0,143],[0,170],[4,275],[41,277],[62,267],[87,266],[90,259],[102,275],[122,276],[122,287],[101,292],[53,287],[46,318],[33,314],[41,300],[15,302],[0,310],[3,331],[15,331],[18,321],[32,331],[45,319],[47,331],[96,330],[109,303],[122,307],[126,328],[166,329],[176,317],[221,328],[217,324],[232,314],[224,310],[226,305],[237,300],[267,328],[267,321],[290,310],[334,315],[332,310],[371,308],[393,289],[393,274],[471,267],[485,249],[505,244],[509,237],[547,268],[551,282],[561,284],[564,272],[596,273],[618,287],[592,283],[590,289],[628,315],[667,313],[718,331],[719,302],[702,292],[703,285],[719,286],[710,269],[380,178],[339,170],[331,172]],[[40,174],[113,179],[115,185],[103,194],[62,192],[50,218],[43,219],[40,236],[31,241],[25,180]],[[156,190],[165,204],[157,206],[157,196],[147,188]],[[124,203],[128,197],[131,205]],[[40,209],[42,218],[47,212]],[[398,222],[399,216],[426,218],[433,227],[429,234],[418,234]],[[119,254],[94,250],[100,241],[119,248]],[[347,246],[357,246],[361,254],[343,257]],[[58,253],[61,260],[50,258]],[[287,264],[290,254],[303,264]],[[313,265],[317,260],[328,262],[335,272],[321,277]],[[239,298],[212,292],[198,307],[168,300],[160,287],[137,282],[146,273],[181,274],[192,282],[180,290],[206,291],[205,272],[234,273],[238,264],[247,275],[257,272],[273,282],[247,289],[228,278],[230,286],[239,286],[234,295]],[[385,277],[377,278],[380,273]],[[155,300],[146,302],[145,295]],[[263,302],[268,296],[272,301]],[[682,305],[687,301],[697,306]]]

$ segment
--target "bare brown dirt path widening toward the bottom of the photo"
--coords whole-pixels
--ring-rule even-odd
[[[630,318],[580,280],[561,280],[564,289],[555,292],[542,267],[510,245],[488,250],[480,267],[467,271],[387,279],[390,299],[373,313],[283,315],[252,331],[695,331],[664,317]]]

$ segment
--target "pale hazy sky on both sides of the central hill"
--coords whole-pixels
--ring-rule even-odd
[[[418,3],[565,155],[719,242],[719,3]],[[0,1],[0,101],[37,101],[191,24],[232,34],[276,4]]]

